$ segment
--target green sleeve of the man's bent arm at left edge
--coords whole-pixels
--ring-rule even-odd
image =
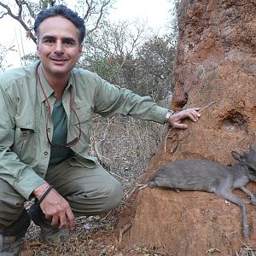
[[[15,106],[2,86],[0,116],[0,178],[28,200],[32,191],[45,181],[11,150],[15,141]]]

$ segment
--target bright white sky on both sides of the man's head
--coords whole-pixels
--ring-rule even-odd
[[[117,0],[110,11],[109,18],[113,22],[119,20],[147,21],[148,26],[152,27],[155,33],[161,33],[169,20],[170,6],[168,0]],[[0,44],[6,47],[15,45],[15,50],[9,51],[9,55],[6,56],[4,66],[20,66],[20,55],[34,53],[36,45],[25,37],[25,30],[16,20],[4,17],[0,20],[0,29]]]

